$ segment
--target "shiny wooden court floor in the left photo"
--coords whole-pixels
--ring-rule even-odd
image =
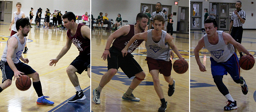
[[[8,37],[10,23],[0,22],[0,55]],[[64,55],[56,66],[49,66],[50,60],[54,59],[66,43],[66,31],[56,29],[31,28],[27,38],[33,42],[27,43],[28,53],[22,54],[28,58],[28,65],[35,69],[39,75],[43,88],[43,94],[49,96],[48,100],[54,102],[52,106],[37,105],[37,94],[33,85],[27,91],[20,91],[12,85],[0,93],[0,111],[1,112],[63,112],[63,111],[90,111],[90,78],[86,72],[77,74],[80,86],[87,97],[86,100],[77,103],[67,103],[70,97],[76,93],[71,84],[66,68],[78,56],[78,50],[72,44],[70,50]],[[2,72],[0,73],[2,76]],[[0,78],[2,81],[2,77]]]

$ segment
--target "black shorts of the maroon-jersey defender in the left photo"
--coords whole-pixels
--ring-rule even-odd
[[[87,68],[90,68],[90,57],[90,54],[79,54],[70,65],[73,65],[78,70],[78,74],[82,74],[84,70],[87,71]]]

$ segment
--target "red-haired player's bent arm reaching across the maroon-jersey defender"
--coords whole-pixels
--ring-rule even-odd
[[[126,44],[126,46],[122,50],[123,57],[127,55],[128,48],[132,45],[132,43],[135,40],[142,40],[142,39],[145,41],[148,40],[148,32],[138,33],[138,34],[132,36],[132,38],[129,40],[129,42]]]

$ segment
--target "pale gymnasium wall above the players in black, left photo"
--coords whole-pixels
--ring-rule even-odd
[[[31,7],[34,8],[33,14],[35,15],[37,9],[41,7],[43,10],[42,18],[44,18],[44,13],[46,8],[50,10],[51,13],[54,10],[59,10],[64,15],[65,11],[73,12],[75,15],[82,16],[85,12],[90,13],[90,0],[8,0],[12,1],[12,12],[17,11],[16,3],[21,3],[21,11],[25,13],[25,16],[29,17],[29,11]],[[13,18],[13,15],[12,15]],[[36,16],[33,17],[33,22]],[[77,22],[77,21],[76,21]],[[80,21],[79,21],[80,22]]]

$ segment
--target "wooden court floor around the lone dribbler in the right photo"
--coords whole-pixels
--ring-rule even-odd
[[[225,31],[227,32],[227,31]],[[201,31],[190,31],[190,112],[222,112],[226,106],[226,98],[219,92],[213,82],[211,74],[211,62],[209,52],[204,48],[200,51],[200,60],[206,67],[206,72],[201,72],[194,58],[194,48],[198,40],[204,35]],[[256,57],[256,32],[255,30],[244,30],[242,45]],[[240,55],[237,53],[238,57]],[[253,94],[256,92],[256,68],[251,70],[241,69],[241,76],[244,77],[249,91],[244,95],[240,84],[236,84],[233,79],[224,76],[223,83],[227,86],[229,93],[237,101],[237,109],[231,112],[255,112],[256,102]]]

